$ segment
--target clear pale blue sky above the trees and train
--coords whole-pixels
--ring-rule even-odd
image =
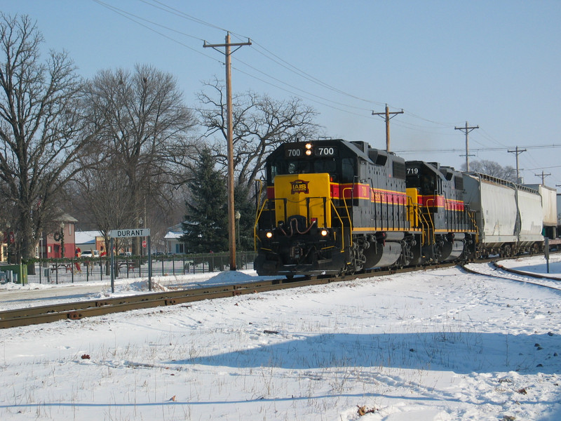
[[[543,171],[561,185],[561,147],[539,147],[561,145],[560,0],[104,0],[123,14],[100,3],[0,0],[0,10],[30,15],[45,51],[68,51],[82,76],[147,63],[174,74],[192,107],[203,81],[224,79],[223,56],[203,40],[223,43],[228,30],[254,43],[232,55],[234,91],[299,95],[325,135],[385,148],[384,120],[371,114],[387,103],[405,111],[391,120],[391,149],[405,159],[460,168],[454,127],[468,121],[480,126],[471,161],[514,167],[506,149],[526,148],[525,182]]]

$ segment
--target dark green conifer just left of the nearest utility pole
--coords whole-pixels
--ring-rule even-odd
[[[209,253],[228,250],[228,203],[226,179],[215,170],[215,159],[208,147],[198,158],[193,181],[189,182],[190,198],[183,222],[181,241],[187,253]]]

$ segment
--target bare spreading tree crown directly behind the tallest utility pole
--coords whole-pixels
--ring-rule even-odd
[[[203,104],[199,113],[205,136],[215,140],[214,151],[226,165],[226,95],[223,84],[215,79],[205,83],[211,91],[202,91],[198,100]],[[237,183],[252,186],[264,159],[282,142],[305,141],[315,137],[319,126],[313,123],[318,114],[303,105],[298,98],[276,101],[267,95],[248,92],[232,98],[234,168]],[[210,107],[210,108],[209,108]]]

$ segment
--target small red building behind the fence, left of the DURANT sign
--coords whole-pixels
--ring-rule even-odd
[[[55,232],[43,233],[39,239],[38,257],[39,258],[73,258],[76,251],[76,234],[74,227],[76,226],[76,218],[62,214],[57,219],[59,222],[58,229]],[[64,248],[64,253],[62,253]]]

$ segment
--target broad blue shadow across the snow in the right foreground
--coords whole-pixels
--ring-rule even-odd
[[[287,369],[379,366],[455,373],[561,371],[561,335],[550,333],[506,335],[449,331],[300,336],[262,333],[252,339],[261,343],[234,352],[168,363]]]

